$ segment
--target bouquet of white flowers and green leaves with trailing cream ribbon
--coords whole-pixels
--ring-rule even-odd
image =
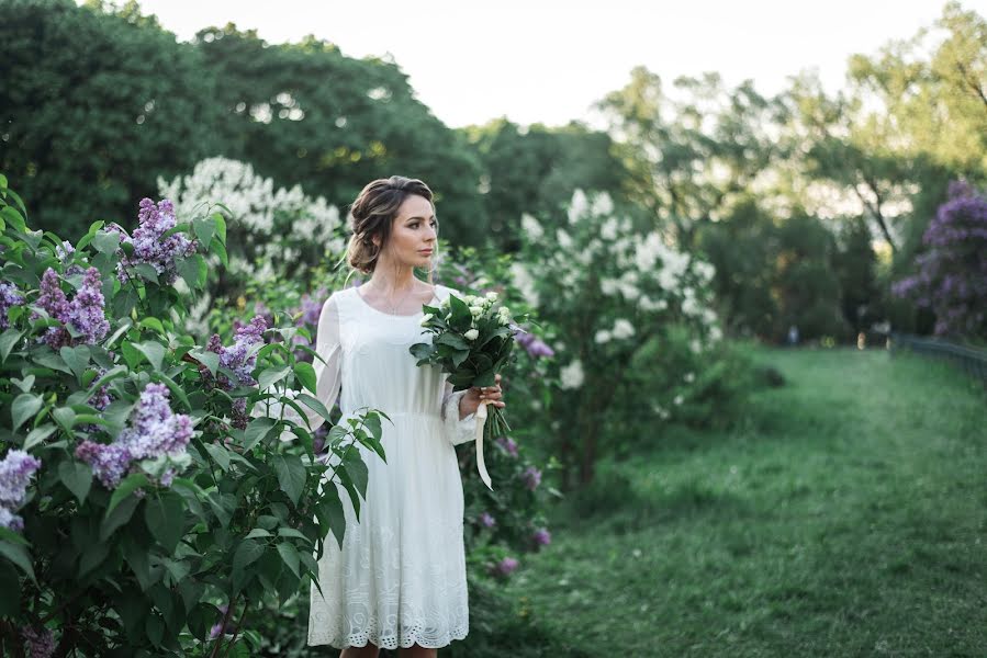
[[[436,308],[423,306],[422,326],[434,334],[430,343],[411,347],[418,365],[440,365],[449,373],[452,390],[472,386],[493,386],[495,375],[511,359],[514,349],[514,327],[511,309],[497,305],[497,294],[483,297],[466,295],[461,299],[449,295]],[[493,439],[511,431],[504,412],[482,401],[476,408],[476,467],[484,484],[492,490],[490,475],[483,463],[483,439]]]

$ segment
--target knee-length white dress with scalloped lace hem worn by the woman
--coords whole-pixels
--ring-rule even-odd
[[[433,303],[450,292],[436,286]],[[345,417],[370,407],[393,424],[381,419],[386,463],[355,444],[369,470],[359,521],[346,489],[335,483],[346,534],[340,549],[329,533],[318,559],[323,593],[312,586],[310,645],[437,648],[469,633],[463,494],[453,445],[473,439],[476,418],[459,419],[464,392],[452,394],[438,366],[415,365],[408,348],[430,340],[420,319],[420,311],[378,310],[355,287],[334,293],[323,306],[316,352],[327,363],[314,363],[318,399],[332,408],[341,386]],[[315,412],[306,415],[313,430],[321,424]]]

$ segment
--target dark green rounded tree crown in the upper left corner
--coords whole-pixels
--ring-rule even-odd
[[[213,152],[215,88],[200,53],[130,10],[11,0],[0,21],[0,171],[20,181],[37,225],[125,217]]]

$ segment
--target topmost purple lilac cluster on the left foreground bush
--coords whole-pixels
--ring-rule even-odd
[[[155,272],[158,273],[160,283],[169,285],[175,282],[175,279],[178,276],[175,261],[179,258],[191,256],[197,248],[195,240],[190,240],[180,232],[172,234],[167,238],[161,237],[165,232],[175,228],[176,224],[175,207],[169,200],[162,198],[155,205],[152,200],[142,198],[137,228],[134,229],[133,237],[128,237],[115,224],[108,226],[108,229],[120,234],[121,242],[130,242],[134,246],[132,256],[121,256],[116,273],[121,283],[126,283],[128,280],[125,268],[138,263],[147,263],[153,266]]]

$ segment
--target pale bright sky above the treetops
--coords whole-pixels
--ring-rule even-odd
[[[846,59],[933,26],[941,0],[139,0],[182,41],[209,25],[269,43],[306,34],[350,57],[386,56],[450,127],[501,116],[602,127],[592,104],[643,65],[672,82],[719,72],[764,94],[800,70],[843,86]],[[963,0],[987,15],[987,0]]]

